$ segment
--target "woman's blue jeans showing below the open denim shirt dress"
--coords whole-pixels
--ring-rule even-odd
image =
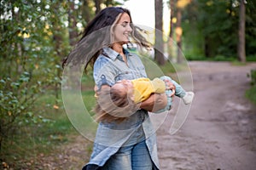
[[[152,170],[154,163],[151,161],[145,140],[138,144],[121,147],[110,157],[103,170]]]

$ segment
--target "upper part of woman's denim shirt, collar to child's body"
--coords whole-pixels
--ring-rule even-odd
[[[136,79],[147,77],[144,65],[136,54],[125,51],[127,65],[121,55],[111,48],[103,48],[102,54],[96,59],[94,64],[93,77],[98,88],[101,88],[102,77],[106,78],[107,84],[113,84],[122,79]],[[105,79],[104,79],[105,81]]]

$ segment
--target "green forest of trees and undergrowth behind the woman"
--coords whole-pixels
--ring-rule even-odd
[[[61,102],[62,59],[102,8],[126,1],[0,0],[0,161],[5,169],[29,167],[35,161],[25,162],[32,157],[49,154],[55,145],[68,143],[70,133],[77,134]],[[170,9],[170,31],[154,46],[167,46],[168,59],[180,60],[170,47],[173,41],[188,61],[256,61],[255,1],[154,0],[155,30],[163,30],[163,5]],[[153,61],[168,66],[157,52]],[[88,74],[84,80],[93,87]],[[83,93],[92,107],[94,92]]]

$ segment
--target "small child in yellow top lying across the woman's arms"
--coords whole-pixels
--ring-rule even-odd
[[[175,92],[166,89],[166,80],[171,81],[176,86]],[[95,111],[96,114],[99,112],[107,114],[108,112],[108,114],[112,116],[120,116],[122,111],[132,112],[136,110],[136,105],[148,99],[151,94],[163,93],[167,95],[167,105],[165,108],[154,111],[155,113],[169,111],[171,109],[172,93],[181,98],[185,105],[189,105],[194,98],[193,92],[186,92],[177,82],[173,81],[171,77],[164,76],[154,78],[154,80],[148,78],[121,80],[116,82],[110,89],[102,91],[98,96]],[[113,104],[111,104],[111,100]]]

